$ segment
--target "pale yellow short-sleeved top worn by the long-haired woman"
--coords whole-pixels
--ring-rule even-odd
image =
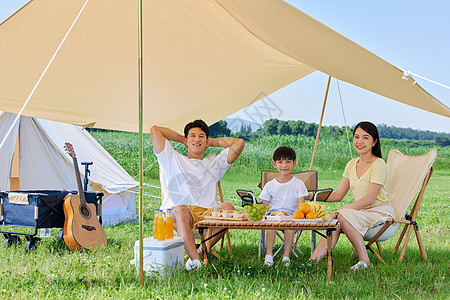
[[[350,181],[350,190],[352,191],[353,199],[357,201],[366,196],[369,190],[369,184],[372,182],[380,184],[382,187],[374,203],[368,208],[388,202],[386,197],[387,168],[384,160],[377,158],[361,178],[358,178],[358,175],[356,175],[356,163],[358,161],[359,157],[349,161],[342,175]]]

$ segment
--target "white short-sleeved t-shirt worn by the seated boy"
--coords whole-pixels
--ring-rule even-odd
[[[303,181],[292,177],[288,182],[280,183],[276,178],[264,186],[259,198],[270,202],[270,210],[296,211],[298,198],[308,196],[308,189]]]

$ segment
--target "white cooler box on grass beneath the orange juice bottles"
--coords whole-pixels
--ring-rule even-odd
[[[147,275],[165,276],[184,265],[184,241],[182,237],[174,237],[164,241],[153,237],[145,238],[144,244],[144,271]],[[134,260],[136,270],[139,272],[139,241],[134,243]]]

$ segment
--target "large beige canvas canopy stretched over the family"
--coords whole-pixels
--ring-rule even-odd
[[[0,24],[0,109],[17,113],[85,0],[34,0]],[[143,1],[144,131],[220,120],[315,70],[450,117],[403,71],[275,0]],[[24,115],[138,131],[138,5],[91,0]]]

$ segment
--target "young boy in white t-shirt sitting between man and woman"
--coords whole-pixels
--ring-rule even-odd
[[[273,167],[277,169],[278,175],[269,181],[263,188],[259,198],[263,200],[264,205],[270,205],[270,211],[287,211],[294,214],[299,205],[305,202],[305,197],[309,196],[308,189],[303,181],[294,177],[292,169],[297,164],[295,151],[289,147],[279,147],[273,153]],[[292,244],[294,241],[294,230],[284,231],[284,254],[281,260],[286,266],[289,266],[289,258]],[[275,230],[267,230],[266,257],[264,264],[273,265],[273,245],[275,243]]]

